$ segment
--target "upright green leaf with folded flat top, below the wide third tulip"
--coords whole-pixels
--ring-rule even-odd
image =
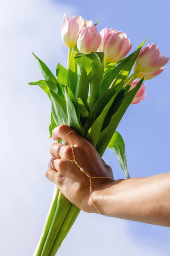
[[[90,77],[90,101],[89,110],[90,116],[93,116],[93,107],[98,99],[99,91],[102,84],[102,78],[104,73],[104,53],[92,53],[92,71]]]

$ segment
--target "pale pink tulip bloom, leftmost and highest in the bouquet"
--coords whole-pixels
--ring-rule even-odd
[[[61,28],[63,43],[69,48],[74,48],[84,25],[85,21],[81,16],[74,16],[69,20],[68,15],[65,13]]]

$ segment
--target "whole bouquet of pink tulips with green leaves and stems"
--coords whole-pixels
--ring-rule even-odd
[[[40,86],[51,100],[50,135],[56,126],[67,124],[101,157],[111,148],[129,178],[125,144],[116,128],[128,106],[144,100],[143,81],[160,74],[169,58],[155,44],[142,49],[144,42],[126,56],[132,48],[126,34],[113,28],[103,28],[99,34],[96,25],[81,16],[69,20],[65,14],[61,36],[68,46],[68,69],[58,64],[55,76],[34,55],[44,80],[29,84]],[[34,256],[54,256],[79,211],[55,187]]]

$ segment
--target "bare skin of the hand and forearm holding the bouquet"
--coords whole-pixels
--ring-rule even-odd
[[[52,131],[53,140],[62,138],[73,147],[76,162],[90,176],[109,177],[92,179],[92,198],[104,215],[170,227],[170,173],[151,177],[114,180],[109,165],[101,159],[93,145],[72,129],[61,125]],[[99,213],[90,194],[89,178],[74,163],[71,146],[51,145],[52,168],[46,177],[55,183],[66,198],[81,210]],[[61,159],[61,158],[65,159]]]

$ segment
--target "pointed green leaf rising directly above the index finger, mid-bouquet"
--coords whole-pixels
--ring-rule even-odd
[[[68,113],[68,125],[79,135],[85,136],[85,131],[80,123],[80,108],[72,91],[65,85],[65,96]]]

